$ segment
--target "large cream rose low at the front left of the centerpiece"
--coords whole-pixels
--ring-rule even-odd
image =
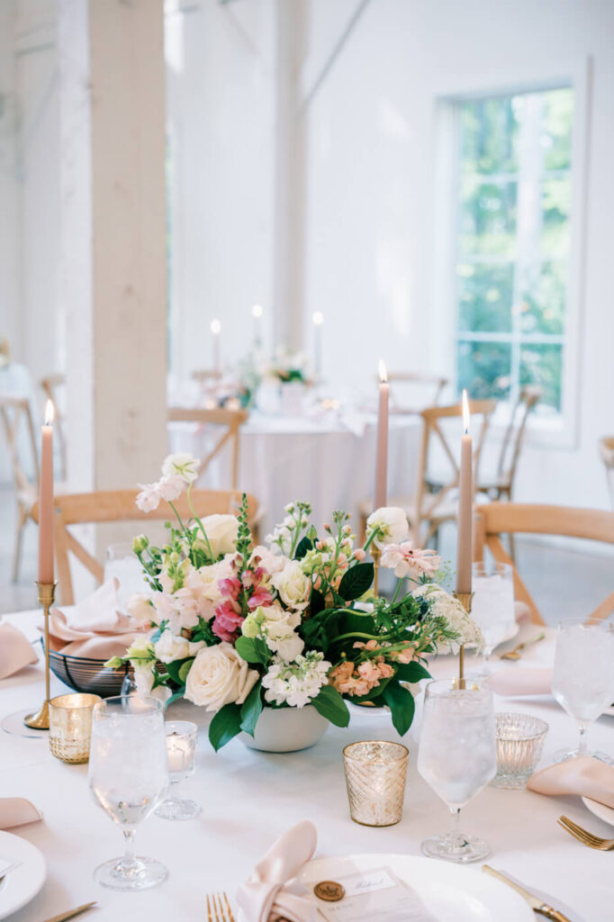
[[[185,698],[207,711],[218,711],[224,704],[242,704],[257,680],[255,669],[224,641],[200,650],[188,672]]]

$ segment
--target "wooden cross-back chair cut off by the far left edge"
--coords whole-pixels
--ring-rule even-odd
[[[38,499],[39,455],[36,448],[34,423],[27,397],[0,395],[0,416],[6,435],[6,445],[10,456],[13,475],[13,488],[18,507],[15,549],[13,551],[13,582],[17,583],[19,563],[21,561],[21,542],[23,530],[30,518],[32,506]],[[28,460],[23,455],[27,446]],[[26,473],[26,466],[31,469],[32,479]]]

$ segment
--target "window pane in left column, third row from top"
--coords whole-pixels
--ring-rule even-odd
[[[478,333],[508,333],[512,329],[514,263],[456,266],[458,328]]]

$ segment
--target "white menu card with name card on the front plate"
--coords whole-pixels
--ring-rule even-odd
[[[418,893],[399,881],[390,868],[376,868],[335,879],[345,890],[337,903],[318,899],[326,922],[437,922]]]

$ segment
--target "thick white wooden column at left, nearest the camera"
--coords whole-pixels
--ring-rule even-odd
[[[163,5],[59,10],[69,487],[132,487],[167,449]]]

